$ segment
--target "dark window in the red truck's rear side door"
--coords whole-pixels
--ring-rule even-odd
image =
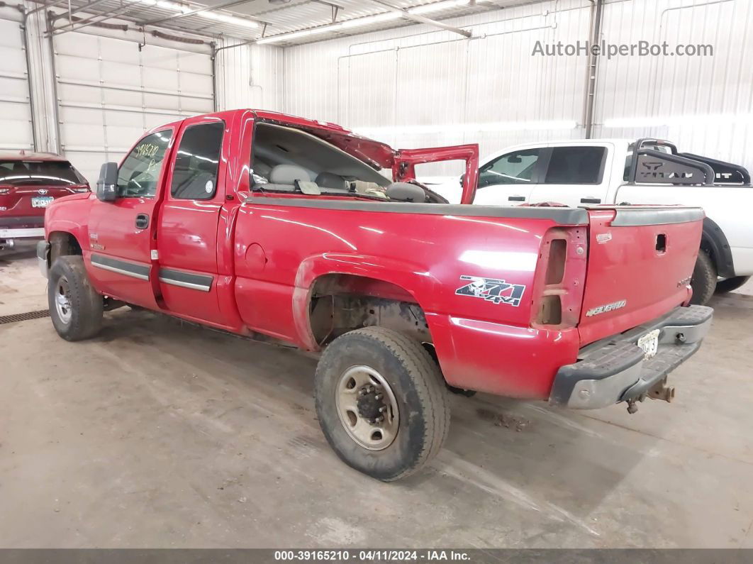
[[[170,194],[180,200],[211,200],[217,191],[217,170],[225,124],[221,121],[188,127],[178,145]]]

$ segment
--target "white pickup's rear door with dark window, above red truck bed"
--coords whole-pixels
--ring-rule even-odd
[[[545,149],[541,178],[533,187],[531,203],[596,206],[606,202],[611,155],[606,144],[562,145]]]

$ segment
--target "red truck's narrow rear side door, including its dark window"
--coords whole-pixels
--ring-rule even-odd
[[[221,322],[217,230],[230,134],[219,117],[184,120],[175,139],[157,227],[159,282],[170,312]]]

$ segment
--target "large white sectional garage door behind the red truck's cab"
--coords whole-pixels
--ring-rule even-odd
[[[55,63],[62,152],[92,184],[145,130],[213,109],[209,53],[72,32]]]

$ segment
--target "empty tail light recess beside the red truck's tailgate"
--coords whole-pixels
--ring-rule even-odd
[[[587,257],[586,227],[555,227],[544,233],[533,283],[532,327],[578,325]]]

